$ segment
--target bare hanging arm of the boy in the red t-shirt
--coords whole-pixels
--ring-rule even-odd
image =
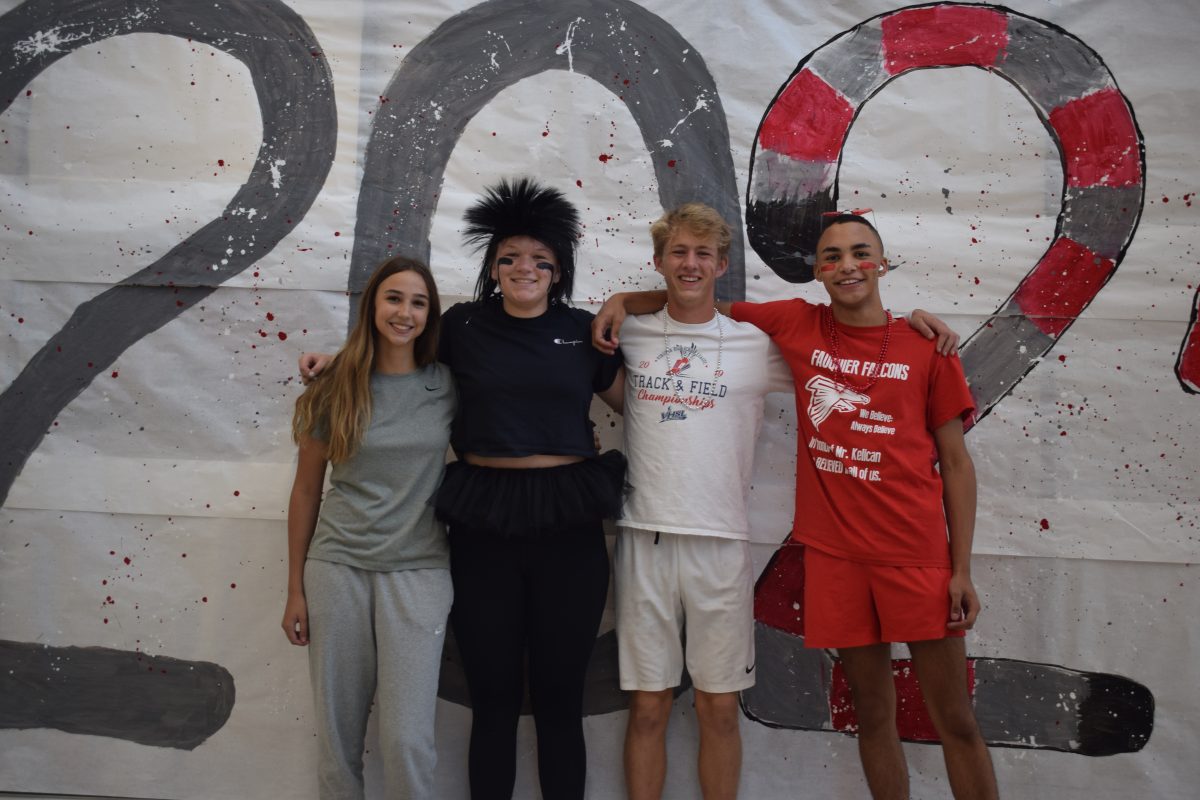
[[[971,582],[971,543],[974,540],[974,463],[962,439],[962,420],[954,417],[934,431],[942,471],[942,504],[950,536],[950,621],[947,627],[966,631],[979,615],[979,596]]]

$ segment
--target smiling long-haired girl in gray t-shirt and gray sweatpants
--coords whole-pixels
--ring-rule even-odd
[[[434,796],[434,710],[454,594],[445,529],[427,503],[455,413],[450,371],[434,361],[439,326],[428,267],[384,261],[346,345],[296,401],[283,632],[308,648],[323,800],[364,796],[364,732],[377,692],[384,793]]]

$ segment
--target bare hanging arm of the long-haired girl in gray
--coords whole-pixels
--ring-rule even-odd
[[[300,441],[296,477],[288,501],[288,600],[283,607],[283,632],[292,644],[308,644],[308,603],[304,594],[304,564],[308,542],[317,529],[320,489],[325,485],[325,444],[305,438]]]

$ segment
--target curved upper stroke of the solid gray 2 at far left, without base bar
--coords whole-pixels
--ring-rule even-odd
[[[34,52],[31,43],[44,42],[47,31],[55,31],[59,44]],[[304,19],[280,0],[30,0],[0,17],[2,109],[59,59],[126,34],[202,42],[245,64],[263,144],[220,218],[80,303],[0,395],[0,505],[59,413],[130,345],[270,252],[308,211],[334,162],[337,115],[329,65]]]

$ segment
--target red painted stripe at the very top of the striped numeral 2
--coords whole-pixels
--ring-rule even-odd
[[[883,68],[996,66],[1008,47],[1008,17],[990,8],[936,6],[883,18]]]

